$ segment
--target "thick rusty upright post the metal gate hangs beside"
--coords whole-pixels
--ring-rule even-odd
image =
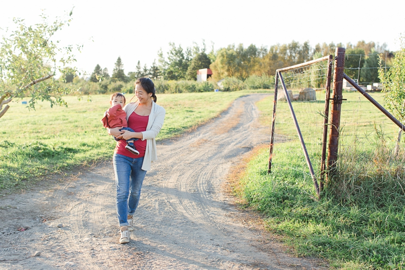
[[[343,74],[345,67],[345,48],[336,48],[333,73],[332,106],[330,110],[330,131],[327,153],[328,175],[333,174],[336,168],[337,151],[339,145],[340,109],[342,104]]]

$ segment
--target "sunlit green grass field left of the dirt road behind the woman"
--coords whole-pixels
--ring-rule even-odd
[[[157,139],[177,136],[218,116],[249,92],[158,95],[166,117]],[[68,108],[43,103],[36,111],[21,101],[10,104],[0,118],[0,192],[24,189],[42,176],[112,157],[116,142],[100,122],[109,95],[92,96],[91,102],[68,96],[66,101]]]

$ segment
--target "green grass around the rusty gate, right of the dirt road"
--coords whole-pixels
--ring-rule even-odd
[[[383,103],[381,93],[373,96]],[[342,105],[342,120],[350,124],[344,126],[348,136],[342,141],[347,145],[339,149],[339,177],[329,181],[320,201],[314,199],[296,131],[288,124],[279,124],[279,134],[295,132],[295,137],[275,145],[272,173],[267,174],[268,150],[263,149],[247,164],[237,190],[246,206],[262,212],[267,228],[283,235],[299,256],[325,258],[336,269],[404,269],[405,160],[404,153],[398,158],[391,154],[398,128],[386,123],[386,116],[368,101],[359,100],[358,93],[344,93],[344,98],[348,101]],[[269,126],[270,104],[271,98],[257,103],[262,123]],[[298,106],[295,103],[294,109]],[[285,103],[278,103],[279,108],[277,117],[291,121]],[[359,112],[364,117],[353,120]],[[305,123],[305,117],[297,118]],[[382,127],[375,129],[374,123]],[[317,140],[319,131],[312,125],[300,127],[304,140]],[[356,137],[361,138],[353,140]],[[310,155],[312,160],[320,158],[319,144],[318,152]]]

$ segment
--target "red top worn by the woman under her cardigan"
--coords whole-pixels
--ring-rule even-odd
[[[135,132],[142,132],[146,131],[146,127],[148,126],[149,116],[139,116],[135,112],[133,112],[128,117],[128,127],[132,128]],[[126,141],[119,140],[115,147],[115,154],[122,154],[131,158],[143,157],[145,156],[146,151],[146,140],[142,141],[141,139],[135,141],[134,146],[136,150],[139,151],[139,154],[132,154],[128,150],[125,149]]]

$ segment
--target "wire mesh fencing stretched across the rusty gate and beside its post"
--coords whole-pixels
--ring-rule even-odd
[[[351,78],[358,81],[364,91],[368,91],[375,101],[384,106],[384,96],[378,85],[378,68],[380,65],[385,68],[384,65],[389,59],[385,55],[385,57],[381,56],[379,61],[375,61],[377,57],[377,53],[345,55],[345,60],[350,59],[350,61],[345,65],[344,73],[351,75]],[[357,67],[353,65],[356,61],[358,61]],[[326,169],[322,166],[323,143],[327,145],[331,138],[328,135],[324,140],[325,118],[330,114],[330,109],[325,111],[329,102],[328,61],[325,59],[304,67],[285,68],[281,71],[278,81],[276,80],[278,93],[273,132],[276,142],[284,142],[288,145],[291,155],[299,155],[297,162],[287,163],[287,169],[301,172],[302,177],[308,181],[314,180],[311,176],[311,168],[303,154],[299,134],[301,133],[305,150],[314,169],[314,177],[322,180],[322,171]],[[283,83],[288,98],[285,95]],[[369,85],[368,89],[367,85]],[[291,101],[291,109],[295,116],[291,114],[287,99]],[[377,152],[381,149],[390,151],[395,148],[399,127],[345,81],[341,99],[343,101],[340,110],[337,166],[339,170],[345,168],[346,173],[349,167],[352,168],[349,170],[352,173],[365,173],[365,167],[376,165],[378,162],[376,161]],[[294,117],[299,125],[299,131],[294,125]],[[329,133],[332,128],[330,118],[327,125],[327,133]],[[270,150],[270,154],[269,170],[272,160],[277,159],[277,146],[274,150]]]

